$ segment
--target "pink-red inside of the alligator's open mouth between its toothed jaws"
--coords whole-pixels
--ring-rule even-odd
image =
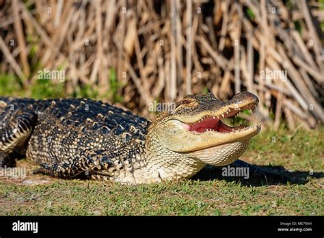
[[[183,127],[187,131],[193,133],[205,133],[206,131],[215,131],[219,133],[232,133],[237,131],[242,131],[246,129],[251,129],[254,126],[239,125],[237,127],[230,127],[225,122],[222,121],[224,118],[235,118],[239,112],[244,109],[249,109],[252,113],[256,110],[256,104],[251,103],[242,108],[228,108],[224,114],[218,116],[204,116],[200,120],[194,123],[183,123]],[[258,126],[257,126],[258,127]]]

